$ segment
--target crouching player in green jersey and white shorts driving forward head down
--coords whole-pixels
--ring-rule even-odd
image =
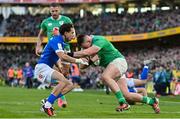
[[[98,55],[99,65],[105,68],[101,79],[114,92],[119,102],[116,111],[123,111],[130,108],[125,100],[127,99],[134,102],[146,103],[152,106],[155,113],[160,112],[157,98],[150,98],[128,91],[124,75],[128,68],[125,57],[105,37],[79,35],[77,42],[84,50],[71,53],[73,57]]]

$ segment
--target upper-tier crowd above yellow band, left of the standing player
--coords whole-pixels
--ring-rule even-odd
[[[37,36],[41,21],[47,15],[11,15],[4,36]]]

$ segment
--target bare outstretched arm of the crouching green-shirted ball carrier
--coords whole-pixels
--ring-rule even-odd
[[[98,46],[91,46],[87,49],[81,50],[81,51],[77,51],[73,53],[73,57],[86,57],[86,56],[91,56],[91,55],[95,55],[99,52],[100,48]]]

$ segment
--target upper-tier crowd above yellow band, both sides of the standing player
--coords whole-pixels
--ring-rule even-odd
[[[37,36],[39,26],[49,15],[11,15],[7,19],[4,36]],[[145,13],[102,13],[93,15],[86,12],[83,18],[79,14],[69,16],[77,33],[98,35],[136,34],[158,31],[180,26],[180,10],[149,11]]]

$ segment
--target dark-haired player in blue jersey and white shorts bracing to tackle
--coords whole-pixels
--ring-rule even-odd
[[[76,59],[64,53],[64,46],[66,45],[64,39],[70,41],[76,37],[73,25],[62,25],[60,27],[60,34],[61,35],[52,37],[48,41],[37,65],[35,66],[35,76],[39,81],[47,83],[50,83],[52,79],[59,81],[45,103],[42,105],[42,110],[49,116],[54,115],[53,103],[55,100],[73,89],[72,82],[67,80],[62,73],[54,70],[52,67],[56,65],[57,68],[61,70],[59,59],[70,63],[88,65],[88,63],[82,59]]]

